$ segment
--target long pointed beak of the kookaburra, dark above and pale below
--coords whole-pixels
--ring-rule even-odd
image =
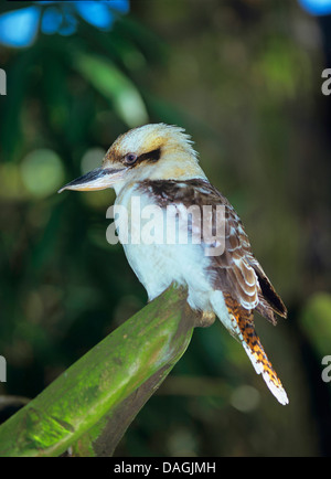
[[[96,168],[65,184],[57,193],[62,193],[64,190],[94,191],[113,188],[117,181],[121,180],[125,171],[126,168]]]

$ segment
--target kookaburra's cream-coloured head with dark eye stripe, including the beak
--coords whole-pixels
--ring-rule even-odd
[[[143,180],[204,178],[190,136],[183,128],[164,124],[145,125],[119,136],[107,151],[100,168],[77,178],[64,190],[90,191]]]

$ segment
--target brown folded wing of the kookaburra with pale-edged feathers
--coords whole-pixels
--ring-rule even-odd
[[[254,257],[242,221],[227,199],[209,181],[147,180],[139,187],[153,196],[161,206],[182,203],[186,207],[196,204],[212,206],[215,221],[216,205],[225,206],[225,249],[220,256],[211,256],[209,274],[215,289],[231,294],[247,310],[256,309],[276,323],[274,312],[286,316],[286,308]],[[192,226],[193,227],[193,226]],[[213,234],[214,233],[213,228]],[[206,246],[206,245],[205,245]]]

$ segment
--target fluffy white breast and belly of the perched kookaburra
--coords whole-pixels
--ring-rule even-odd
[[[126,226],[129,228],[128,242],[122,246],[149,299],[156,298],[175,281],[188,286],[189,302],[193,308],[209,309],[212,287],[205,273],[209,258],[203,247],[200,244],[179,244],[178,235],[175,244],[169,244],[171,237],[167,238],[169,223],[166,209],[160,209],[151,196],[141,194],[135,185],[122,190],[115,204],[125,206],[128,212],[128,224],[119,213],[116,226],[119,236],[122,236]]]

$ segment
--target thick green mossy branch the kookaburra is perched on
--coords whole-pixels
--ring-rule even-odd
[[[92,320],[96,320],[93,319]],[[173,286],[0,427],[0,456],[109,456],[184,353],[194,317]]]

